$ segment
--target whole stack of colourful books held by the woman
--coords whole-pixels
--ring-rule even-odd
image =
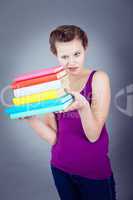
[[[11,84],[13,105],[5,109],[11,119],[58,112],[74,100],[64,88],[69,88],[69,79],[62,66],[44,68],[24,74]]]

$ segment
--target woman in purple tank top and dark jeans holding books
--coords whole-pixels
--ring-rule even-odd
[[[50,33],[50,49],[67,70],[75,101],[44,121],[28,118],[51,145],[51,170],[61,200],[116,200],[115,180],[108,157],[106,120],[111,91],[108,74],[84,67],[87,34],[74,25]]]

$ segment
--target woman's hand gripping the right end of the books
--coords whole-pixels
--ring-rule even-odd
[[[68,112],[75,109],[79,111],[88,105],[87,99],[83,95],[81,95],[79,92],[75,92],[66,88],[65,88],[65,91],[67,93],[70,93],[72,96],[74,96],[74,102],[71,105],[69,105],[65,110],[60,111],[60,112]]]

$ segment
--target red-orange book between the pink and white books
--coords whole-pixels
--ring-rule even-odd
[[[36,85],[39,83],[45,83],[45,82],[58,80],[58,79],[64,77],[66,74],[67,73],[65,70],[61,70],[60,72],[55,73],[55,74],[49,74],[49,75],[45,75],[42,77],[32,78],[32,79],[23,80],[23,81],[15,81],[11,84],[11,88],[17,89],[17,88],[22,88],[22,87],[26,87],[26,86]]]

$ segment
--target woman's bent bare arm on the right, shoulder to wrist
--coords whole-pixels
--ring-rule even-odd
[[[89,102],[79,110],[86,137],[95,142],[107,119],[110,107],[111,91],[107,73],[98,71],[92,81],[92,103]]]

